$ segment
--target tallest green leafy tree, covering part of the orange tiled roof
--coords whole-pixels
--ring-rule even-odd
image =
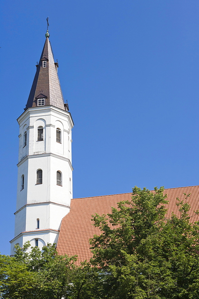
[[[114,299],[199,298],[199,224],[178,200],[180,218],[166,218],[164,188],[133,188],[131,201],[93,216],[102,234],[91,239],[94,266],[102,267],[104,296]]]

